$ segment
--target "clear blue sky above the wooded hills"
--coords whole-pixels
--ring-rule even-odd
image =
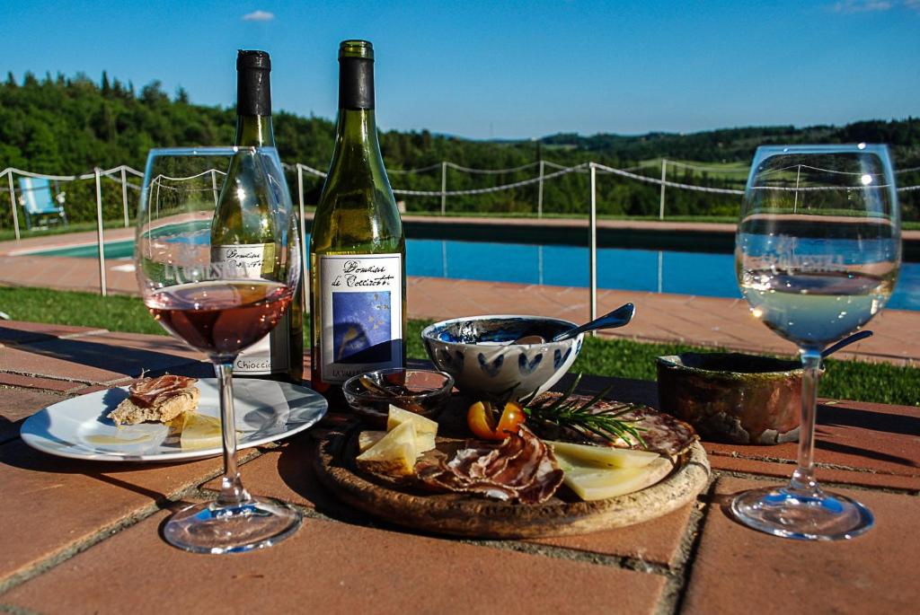
[[[385,130],[471,138],[842,124],[920,115],[920,0],[6,3],[31,71],[159,79],[230,106],[237,48],[275,108],[334,118],[339,40],[377,55]]]

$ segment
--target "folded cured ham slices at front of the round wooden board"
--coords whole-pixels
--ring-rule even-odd
[[[553,451],[527,427],[500,444],[475,442],[453,459],[434,456],[416,465],[419,480],[437,491],[476,493],[504,501],[542,504],[562,484]]]

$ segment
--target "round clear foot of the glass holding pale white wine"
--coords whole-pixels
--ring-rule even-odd
[[[874,522],[867,507],[845,495],[788,487],[745,491],[731,501],[731,514],[754,530],[801,541],[848,540]]]

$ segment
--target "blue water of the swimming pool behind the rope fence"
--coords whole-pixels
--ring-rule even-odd
[[[133,249],[133,241],[107,243],[106,258],[131,258]],[[95,258],[97,248],[95,244],[75,245],[32,254]],[[586,247],[410,239],[406,254],[410,276],[584,288],[589,285]],[[735,282],[734,256],[729,254],[598,248],[597,286],[600,289],[741,297]],[[898,310],[920,310],[920,264],[903,263],[888,306]]]

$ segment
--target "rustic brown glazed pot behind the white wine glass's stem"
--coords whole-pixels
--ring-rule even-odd
[[[696,352],[658,358],[661,411],[701,438],[731,444],[797,440],[801,379],[801,364],[792,360]]]

